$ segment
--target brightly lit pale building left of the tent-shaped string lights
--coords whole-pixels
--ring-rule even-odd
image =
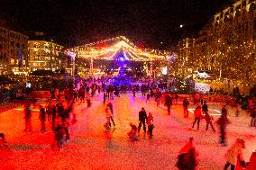
[[[30,71],[58,70],[65,67],[64,47],[48,40],[29,40]]]

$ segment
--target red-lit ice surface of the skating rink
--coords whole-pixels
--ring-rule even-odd
[[[32,112],[32,132],[23,132],[24,113],[22,110],[9,110],[0,114],[0,130],[5,132],[8,146],[0,146],[0,169],[176,169],[178,150],[189,137],[194,137],[199,152],[200,170],[218,170],[224,167],[224,152],[235,139],[246,142],[244,158],[249,160],[251,152],[256,148],[256,129],[249,127],[250,117],[242,111],[239,117],[234,116],[233,108],[229,108],[227,127],[227,147],[218,144],[219,134],[210,127],[205,131],[206,121],[202,120],[200,130],[188,130],[194,116],[190,112],[189,119],[183,118],[180,104],[172,105],[171,114],[167,108],[141,94],[123,94],[114,98],[115,128],[105,131],[105,106],[102,96],[95,97],[91,108],[86,103],[76,103],[74,112],[78,121],[71,125],[70,141],[59,151],[51,148],[53,132],[50,121],[47,121],[47,132],[41,133],[39,112]],[[220,111],[222,105],[208,103],[209,108]],[[154,116],[155,129],[153,139],[141,134],[139,141],[132,143],[127,132],[129,124],[138,124],[138,112],[144,107]],[[191,109],[195,109],[190,104]],[[219,117],[215,115],[215,121]],[[215,129],[218,128],[215,124]]]

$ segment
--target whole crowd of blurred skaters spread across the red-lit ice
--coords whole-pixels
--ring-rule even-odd
[[[50,121],[51,130],[54,131],[54,144],[58,148],[62,148],[62,145],[70,139],[69,136],[69,124],[75,123],[76,115],[73,111],[74,103],[86,103],[87,107],[91,107],[91,99],[94,96],[97,96],[100,93],[103,93],[103,103],[105,105],[105,129],[110,130],[113,127],[115,128],[114,122],[114,106],[113,103],[107,102],[114,99],[115,97],[120,97],[120,95],[126,93],[125,86],[114,87],[113,85],[98,85],[96,83],[84,83],[81,82],[79,85],[75,85],[74,88],[66,87],[62,92],[59,92],[59,89],[53,89],[50,94],[51,98],[45,104],[39,104],[39,120],[41,121],[41,132],[46,131],[45,122]],[[136,97],[136,93],[139,92],[137,86],[132,88],[133,97]],[[163,95],[158,85],[147,85],[142,84],[141,87],[142,96],[146,99],[146,102],[149,102],[151,98],[154,98],[156,106],[160,106],[160,103],[163,102],[167,106],[167,114],[170,115],[170,108],[173,105],[173,101],[178,99],[177,95]],[[163,99],[164,96],[164,99]],[[187,119],[188,107],[191,101],[184,98],[182,101],[182,107],[184,112],[184,118]],[[195,103],[195,101],[193,101]],[[177,102],[176,102],[177,103]],[[194,121],[192,122],[191,129],[194,129],[195,124],[197,123],[197,130],[200,129],[200,121],[202,119],[206,120],[206,130],[210,126],[211,129],[215,132],[214,119],[209,114],[209,109],[206,101],[196,102],[196,108],[194,112]],[[256,109],[255,109],[255,98],[251,99],[249,103],[249,112],[251,116],[251,126],[256,126]],[[32,107],[35,107],[35,103],[32,100],[27,100],[24,107],[24,120],[25,120],[25,131],[32,131]],[[226,146],[226,127],[230,123],[227,118],[228,111],[226,105],[223,105],[220,118],[215,121],[220,131],[220,144]],[[154,117],[151,112],[147,113],[145,108],[142,107],[142,110],[138,112],[138,126],[137,123],[131,122],[131,131],[128,132],[128,138],[131,141],[139,140],[141,129],[143,130],[144,135],[148,135],[151,139],[153,137],[154,127]],[[7,143],[5,140],[5,134],[0,133],[0,138]],[[242,158],[242,151],[245,148],[245,142],[242,139],[237,139],[233,146],[229,148],[225,153],[226,164],[224,169],[227,170],[229,166],[233,170],[235,166],[247,167],[248,169],[255,168],[255,152],[251,154],[250,164],[246,164]],[[188,143],[184,148],[181,148],[178,152],[178,162],[177,167],[182,170],[193,170],[196,169],[198,165],[197,157],[199,153],[194,146],[194,139],[190,138]]]

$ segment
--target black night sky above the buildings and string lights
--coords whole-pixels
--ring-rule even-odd
[[[67,47],[124,35],[138,46],[169,49],[231,1],[0,0],[0,12],[23,31],[44,31]]]

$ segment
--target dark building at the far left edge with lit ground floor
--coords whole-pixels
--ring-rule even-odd
[[[28,36],[6,27],[0,18],[0,75],[27,74]]]

